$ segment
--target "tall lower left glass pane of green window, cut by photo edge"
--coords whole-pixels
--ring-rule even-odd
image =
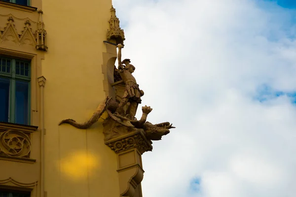
[[[0,121],[8,122],[10,80],[0,78]]]

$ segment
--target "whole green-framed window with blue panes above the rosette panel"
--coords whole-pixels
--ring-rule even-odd
[[[28,61],[0,57],[0,121],[23,125],[30,123]]]

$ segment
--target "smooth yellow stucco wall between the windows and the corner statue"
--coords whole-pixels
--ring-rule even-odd
[[[104,144],[102,120],[89,130],[58,126],[67,118],[85,122],[106,97],[103,40],[110,8],[111,0],[42,0],[47,197],[119,196],[116,154]]]

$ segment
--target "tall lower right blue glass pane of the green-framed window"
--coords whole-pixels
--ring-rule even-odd
[[[28,125],[29,122],[29,82],[15,82],[15,123]]]

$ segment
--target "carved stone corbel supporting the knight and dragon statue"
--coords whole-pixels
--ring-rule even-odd
[[[142,197],[142,154],[152,150],[152,142],[143,131],[137,130],[107,140],[105,144],[117,154],[120,197]]]

